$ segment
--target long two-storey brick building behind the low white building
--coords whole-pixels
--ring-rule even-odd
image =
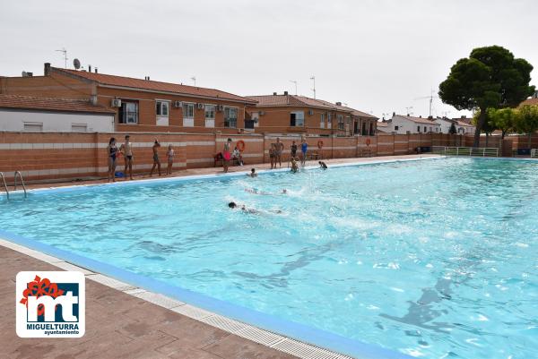
[[[241,132],[245,107],[256,102],[222,90],[65,70],[45,64],[43,76],[1,77],[0,93],[88,101],[115,112],[121,132]],[[252,126],[247,121],[247,126]]]

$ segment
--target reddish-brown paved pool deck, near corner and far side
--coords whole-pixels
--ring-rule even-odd
[[[408,155],[374,158],[338,158],[325,160],[331,167],[344,163],[369,163],[384,160],[438,158],[438,155]],[[317,165],[308,161],[307,165]],[[230,172],[269,169],[269,164],[230,167]],[[287,163],[282,163],[287,167]],[[171,176],[221,174],[221,167],[187,169]],[[153,177],[156,178],[156,177]],[[149,179],[147,175],[136,175],[136,180]],[[29,189],[61,187],[74,184],[102,184],[106,180],[65,182],[55,184],[31,184]],[[41,257],[27,255],[16,247],[6,245],[0,238],[0,358],[182,358],[182,359],[273,359],[273,358],[348,358],[345,355],[312,349],[307,345],[285,339],[273,333],[256,334],[279,337],[282,350],[248,340],[256,336],[242,338],[228,330],[215,328],[203,321],[174,312],[162,305],[150,303],[143,298],[131,295],[126,290],[105,286],[94,280],[86,280],[86,334],[82,338],[19,338],[15,332],[15,276],[22,270],[62,270],[54,261],[41,261]],[[10,248],[8,248],[10,247]],[[15,250],[11,249],[14,248]],[[34,251],[35,252],[35,251]],[[37,252],[38,254],[42,254]],[[31,254],[30,254],[31,255]],[[42,254],[45,257],[49,257]],[[34,258],[37,257],[37,258]],[[52,257],[49,257],[52,258]],[[62,261],[70,266],[69,263]],[[57,264],[57,263],[56,263]],[[74,269],[76,270],[76,269]],[[88,273],[86,273],[88,274]],[[93,274],[93,273],[90,273]],[[95,275],[95,274],[93,274]],[[97,274],[100,276],[100,274]],[[88,278],[88,277],[87,277]],[[149,293],[149,292],[148,292]],[[222,328],[222,327],[220,327]],[[255,328],[256,329],[256,328]],[[256,329],[259,330],[259,329]],[[262,340],[262,343],[267,340]],[[320,352],[322,350],[323,352]],[[298,354],[300,353],[300,354]],[[310,353],[310,354],[309,354]]]

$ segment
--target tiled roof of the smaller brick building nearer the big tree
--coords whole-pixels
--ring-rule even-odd
[[[351,107],[345,107],[341,105],[336,105],[329,101],[318,98],[308,98],[306,96],[299,95],[261,95],[261,96],[247,96],[254,101],[257,101],[257,107],[287,107],[287,106],[297,106],[297,107],[317,107],[325,108],[328,110],[338,110],[343,112],[349,112],[351,115],[356,115],[359,117],[369,117],[376,118],[374,115],[369,115],[365,112],[356,110]]]

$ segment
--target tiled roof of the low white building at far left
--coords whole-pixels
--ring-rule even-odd
[[[38,109],[61,112],[86,112],[99,114],[115,114],[105,107],[91,105],[89,101],[65,98],[33,98],[29,96],[0,94],[1,108]]]

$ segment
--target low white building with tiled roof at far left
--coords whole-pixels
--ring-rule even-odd
[[[0,94],[0,131],[114,132],[114,115],[88,101]]]

